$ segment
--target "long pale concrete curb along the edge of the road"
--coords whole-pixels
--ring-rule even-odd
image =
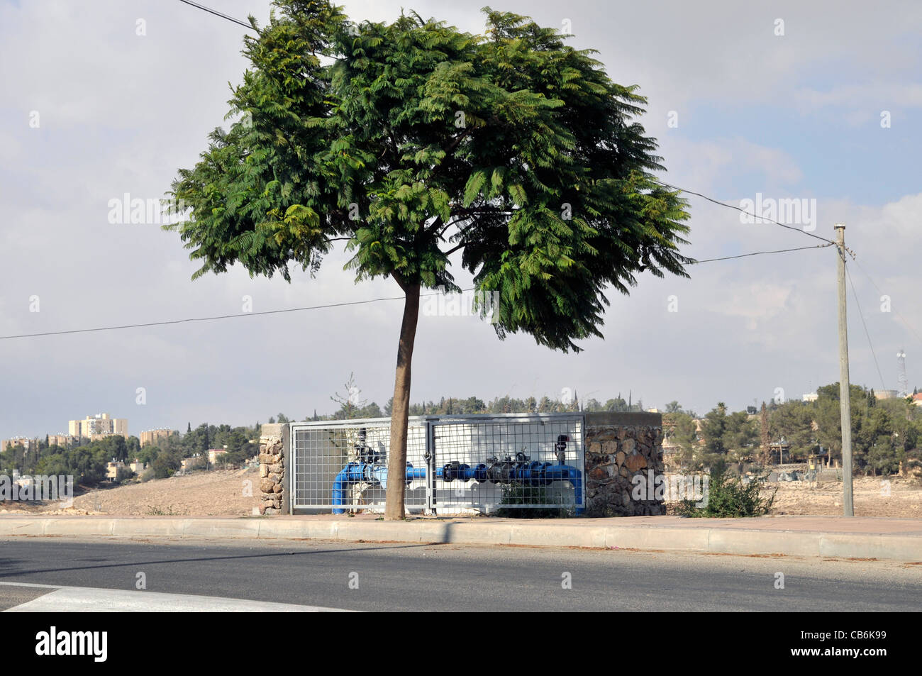
[[[621,519],[612,519],[619,521]],[[674,528],[650,525],[484,523],[418,519],[0,517],[0,537],[110,536],[119,538],[298,539],[439,544],[525,545],[686,551],[712,554],[820,556],[922,561],[922,537],[757,528]]]

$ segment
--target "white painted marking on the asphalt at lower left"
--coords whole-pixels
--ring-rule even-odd
[[[4,612],[347,612],[337,608],[301,606],[294,603],[224,599],[134,589],[61,587],[21,582],[0,582],[0,587],[51,589],[38,599],[20,603]]]

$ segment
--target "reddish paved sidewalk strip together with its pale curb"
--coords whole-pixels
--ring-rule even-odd
[[[922,563],[922,519],[628,516],[500,519],[360,516],[0,516],[0,537],[262,538],[592,547]]]

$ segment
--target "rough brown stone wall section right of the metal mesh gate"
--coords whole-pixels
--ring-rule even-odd
[[[656,500],[634,500],[632,478],[663,473],[659,413],[585,414],[586,516],[666,514]],[[645,493],[645,492],[644,492]]]

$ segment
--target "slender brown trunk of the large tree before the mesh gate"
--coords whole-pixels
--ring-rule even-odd
[[[407,490],[407,423],[409,417],[410,363],[413,361],[413,341],[420,318],[420,285],[406,284],[396,275],[406,296],[403,323],[400,326],[400,346],[397,348],[397,368],[394,378],[394,403],[391,409],[391,445],[387,457],[387,495],[384,519],[392,521],[405,516]]]

